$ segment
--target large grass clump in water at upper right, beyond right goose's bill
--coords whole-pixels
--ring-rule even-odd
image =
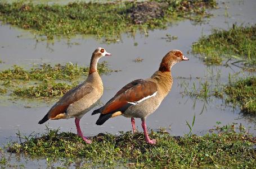
[[[256,25],[236,26],[229,30],[213,29],[194,43],[192,51],[203,58],[205,64],[222,64],[223,60],[236,59],[248,67],[256,65]]]

